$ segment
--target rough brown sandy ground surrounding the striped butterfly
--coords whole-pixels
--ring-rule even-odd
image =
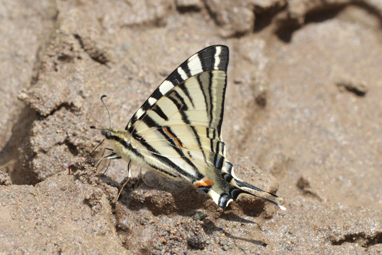
[[[382,253],[379,0],[1,1],[0,253]],[[230,48],[236,175],[286,211],[223,210],[186,182],[98,168],[129,118],[205,46]],[[106,145],[105,145],[106,146]],[[68,174],[68,164],[72,164]]]

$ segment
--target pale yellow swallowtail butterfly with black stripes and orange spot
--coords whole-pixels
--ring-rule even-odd
[[[124,130],[102,129],[108,159],[124,159],[170,179],[182,177],[226,208],[241,195],[268,193],[238,179],[222,138],[228,47],[213,45],[188,58],[150,95]],[[102,99],[102,97],[101,97]],[[256,194],[255,194],[256,193]]]

